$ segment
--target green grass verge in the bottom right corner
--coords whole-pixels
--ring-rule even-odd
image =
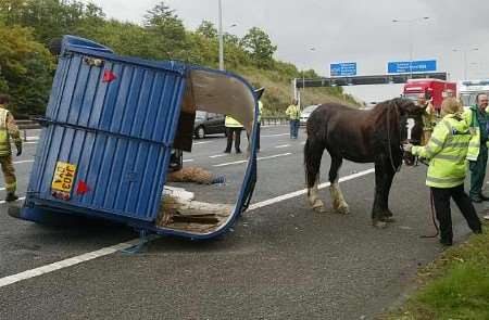
[[[418,272],[419,289],[383,319],[489,319],[489,230],[447,249]]]

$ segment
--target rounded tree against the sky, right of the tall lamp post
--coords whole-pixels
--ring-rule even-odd
[[[269,68],[277,46],[273,46],[268,35],[258,27],[252,27],[241,40],[242,48],[250,53],[259,67]]]

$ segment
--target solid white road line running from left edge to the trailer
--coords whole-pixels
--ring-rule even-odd
[[[12,276],[8,276],[4,278],[0,279],[0,287],[15,283],[15,282],[20,282],[23,280],[27,280],[34,277],[38,277],[45,273],[49,273],[49,272],[53,272],[63,268],[67,268],[67,267],[72,267],[82,263],[86,263],[89,260],[93,260],[106,255],[111,255],[113,253],[116,253],[121,249],[125,249],[125,248],[129,248],[136,244],[138,244],[139,239],[134,239],[131,241],[128,242],[123,242],[120,244],[115,244],[112,246],[108,246],[91,253],[87,253],[87,254],[83,254],[73,258],[68,258],[68,259],[64,259],[58,263],[53,263],[50,265],[46,265],[36,269],[32,269],[32,270],[27,270],[21,273],[16,273],[16,274],[12,274]]]

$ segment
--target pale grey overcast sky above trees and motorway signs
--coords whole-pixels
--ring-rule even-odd
[[[358,75],[385,74],[388,61],[409,61],[412,23],[414,60],[437,60],[453,80],[489,78],[489,1],[476,0],[222,0],[224,27],[242,37],[258,26],[278,46],[276,59],[329,76],[329,64],[356,62]],[[155,0],[93,0],[109,17],[141,23]],[[217,0],[170,0],[187,28],[202,20],[217,25]],[[423,20],[428,16],[428,20]],[[233,24],[235,27],[229,28]],[[314,48],[315,50],[311,50]],[[472,51],[478,48],[477,51]],[[453,49],[462,50],[454,52]],[[399,86],[348,87],[367,101],[398,95]]]

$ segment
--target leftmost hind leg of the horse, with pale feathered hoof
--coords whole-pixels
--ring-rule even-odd
[[[318,213],[325,213],[326,208],[323,201],[319,200],[319,167],[323,157],[324,148],[314,139],[308,137],[304,145],[304,168],[305,181],[308,184],[308,201],[311,207]]]

